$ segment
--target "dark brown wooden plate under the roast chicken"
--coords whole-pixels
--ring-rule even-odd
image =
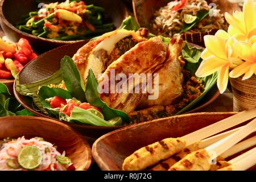
[[[65,55],[72,57],[77,52],[77,49],[82,47],[85,43],[86,42],[77,42],[77,43],[69,44],[63,47],[58,47],[56,49],[53,49],[51,51],[44,53],[43,55],[40,55],[34,61],[28,63],[26,67],[24,67],[22,71],[19,73],[20,84],[27,84],[30,82],[43,80],[44,78],[51,76],[53,73],[55,73],[57,70],[60,69],[60,60]],[[34,110],[32,106],[31,98],[20,95],[15,88],[14,88],[14,94],[16,99],[26,109],[30,110],[32,113],[36,115],[46,117],[46,115],[43,115],[42,113],[39,113],[38,111]],[[214,100],[216,100],[219,94],[220,93],[217,90],[217,86],[214,86],[212,90],[210,90],[210,92],[207,94],[207,96],[203,98],[200,104],[195,106],[193,110],[191,110],[190,112],[198,111],[199,109],[209,105]],[[67,122],[64,122],[64,123],[73,127],[74,129],[79,131],[81,134],[86,135],[86,137],[91,137],[91,138],[98,138],[101,135],[109,133],[110,131],[124,127],[124,126],[100,127],[100,126],[79,125],[79,124],[67,123]]]

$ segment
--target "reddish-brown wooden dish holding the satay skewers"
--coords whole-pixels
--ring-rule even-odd
[[[94,142],[93,159],[102,170],[120,171],[123,160],[139,148],[164,138],[182,137],[234,114],[236,113],[184,114],[119,129]]]

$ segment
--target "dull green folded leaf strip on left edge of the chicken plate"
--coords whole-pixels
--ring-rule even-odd
[[[57,71],[55,72],[52,76],[44,79],[44,80],[40,80],[40,81],[36,81],[36,82],[32,82],[29,84],[20,84],[19,83],[19,76],[17,76],[16,78],[16,90],[19,94],[22,94],[23,96],[30,96],[32,97],[32,95],[34,93],[38,92],[38,89],[40,86],[44,86],[44,85],[50,85],[50,84],[60,84],[60,82],[62,81],[62,77],[61,77],[61,71]]]

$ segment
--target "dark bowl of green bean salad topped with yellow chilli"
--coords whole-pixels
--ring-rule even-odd
[[[0,23],[5,34],[13,42],[26,38],[37,52],[46,52],[113,31],[129,15],[118,0],[47,2],[2,0]]]

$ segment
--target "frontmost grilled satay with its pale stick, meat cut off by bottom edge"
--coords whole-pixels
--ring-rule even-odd
[[[236,131],[217,143],[185,156],[179,162],[174,164],[170,171],[208,171],[210,169],[210,158],[214,152],[215,156],[220,156],[223,152],[240,142],[243,138],[256,131],[256,119],[251,121],[242,129]]]

